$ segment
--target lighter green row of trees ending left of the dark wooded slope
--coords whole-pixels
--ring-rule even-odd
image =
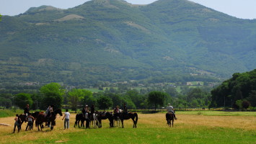
[[[66,107],[77,111],[85,105],[94,104],[97,109],[111,109],[115,106],[123,106],[128,109],[162,109],[167,104],[176,108],[207,107],[211,97],[209,92],[200,88],[183,88],[178,93],[172,86],[154,87],[147,89],[128,89],[125,86],[92,92],[87,89],[64,89],[57,83],[41,86],[32,94],[0,94],[0,102],[6,107],[17,106],[19,108],[30,104],[32,109],[46,109],[53,104],[56,108]]]

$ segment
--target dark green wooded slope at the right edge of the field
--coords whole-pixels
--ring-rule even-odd
[[[256,107],[256,69],[234,73],[231,78],[211,91],[211,107],[247,109]]]

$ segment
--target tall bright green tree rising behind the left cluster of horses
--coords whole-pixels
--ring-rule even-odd
[[[43,94],[43,107],[53,104],[54,109],[61,109],[63,104],[64,89],[58,83],[50,83],[40,88],[40,93]]]

